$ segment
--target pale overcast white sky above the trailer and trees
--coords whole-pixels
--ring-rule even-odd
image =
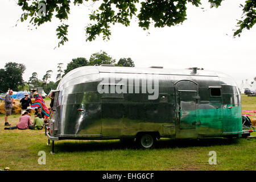
[[[242,80],[253,81],[256,76],[256,26],[244,30],[240,38],[233,38],[236,19],[240,19],[245,1],[226,0],[221,6],[210,9],[210,3],[202,1],[204,9],[188,5],[187,20],[175,27],[154,28],[143,31],[138,20],[133,19],[130,27],[121,24],[112,26],[110,40],[97,37],[86,42],[85,27],[88,14],[97,7],[90,3],[71,6],[67,24],[69,41],[57,47],[59,40],[57,19],[43,24],[37,30],[28,30],[28,22],[18,22],[22,14],[16,5],[18,0],[0,2],[0,68],[13,61],[26,65],[23,80],[28,81],[33,72],[42,80],[46,71],[53,71],[51,81],[56,81],[57,64],[63,69],[73,58],[85,57],[105,51],[117,61],[130,57],[136,67],[162,66],[184,69],[199,67],[224,72],[240,85]],[[55,49],[54,49],[55,48]]]

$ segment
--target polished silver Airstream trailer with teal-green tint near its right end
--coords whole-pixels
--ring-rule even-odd
[[[230,76],[198,68],[80,67],[60,81],[48,127],[52,150],[64,139],[151,148],[156,138],[241,137],[241,94]]]

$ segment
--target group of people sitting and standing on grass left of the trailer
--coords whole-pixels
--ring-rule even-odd
[[[5,97],[5,126],[11,126],[11,124],[7,121],[8,116],[11,115],[11,110],[13,108],[13,104],[15,104],[15,101],[13,98],[11,98],[11,95],[13,94],[13,90],[9,90],[9,93],[6,94]],[[39,96],[38,92],[34,92],[33,95],[35,96],[35,101],[32,103],[31,99],[28,97],[28,94],[24,94],[24,98],[20,100],[20,104],[22,106],[21,110],[21,116],[19,118],[19,123],[16,126],[13,127],[5,127],[5,130],[25,130],[25,129],[31,129],[31,130],[42,130],[43,124],[47,123],[49,114],[51,109],[48,109],[46,105],[44,104],[43,98]],[[51,94],[51,104],[50,107],[53,107],[53,100],[54,100],[54,93]],[[35,109],[35,119],[34,122],[31,122],[31,113],[32,109]]]

